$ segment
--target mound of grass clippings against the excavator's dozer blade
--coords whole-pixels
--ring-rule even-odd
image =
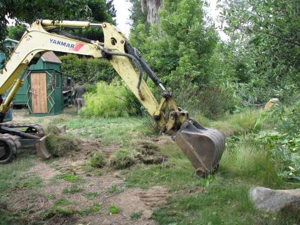
[[[69,135],[49,134],[46,136],[46,148],[55,157],[67,156],[70,152],[76,151],[77,146],[78,141]]]

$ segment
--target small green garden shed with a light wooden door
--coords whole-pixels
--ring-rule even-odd
[[[18,41],[6,39],[3,44],[11,52]],[[2,58],[4,54],[1,54]],[[29,113],[36,116],[61,113],[64,105],[61,64],[54,52],[44,53],[37,64],[29,67],[24,77],[23,87],[18,90],[14,98],[14,105],[27,106]]]

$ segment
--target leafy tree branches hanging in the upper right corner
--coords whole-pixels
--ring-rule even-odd
[[[221,19],[226,21],[224,31],[231,37],[231,49],[225,60],[235,60],[251,73],[251,88],[257,97],[299,92],[300,43],[299,16],[296,1],[289,0],[226,0]],[[235,50],[233,50],[233,48]],[[248,82],[249,83],[249,82]],[[279,95],[280,96],[280,95]]]

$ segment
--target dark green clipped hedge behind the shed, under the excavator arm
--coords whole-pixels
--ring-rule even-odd
[[[79,58],[78,55],[61,56],[61,71],[73,82],[84,81],[95,85],[99,81],[112,82],[117,72],[106,59]]]

